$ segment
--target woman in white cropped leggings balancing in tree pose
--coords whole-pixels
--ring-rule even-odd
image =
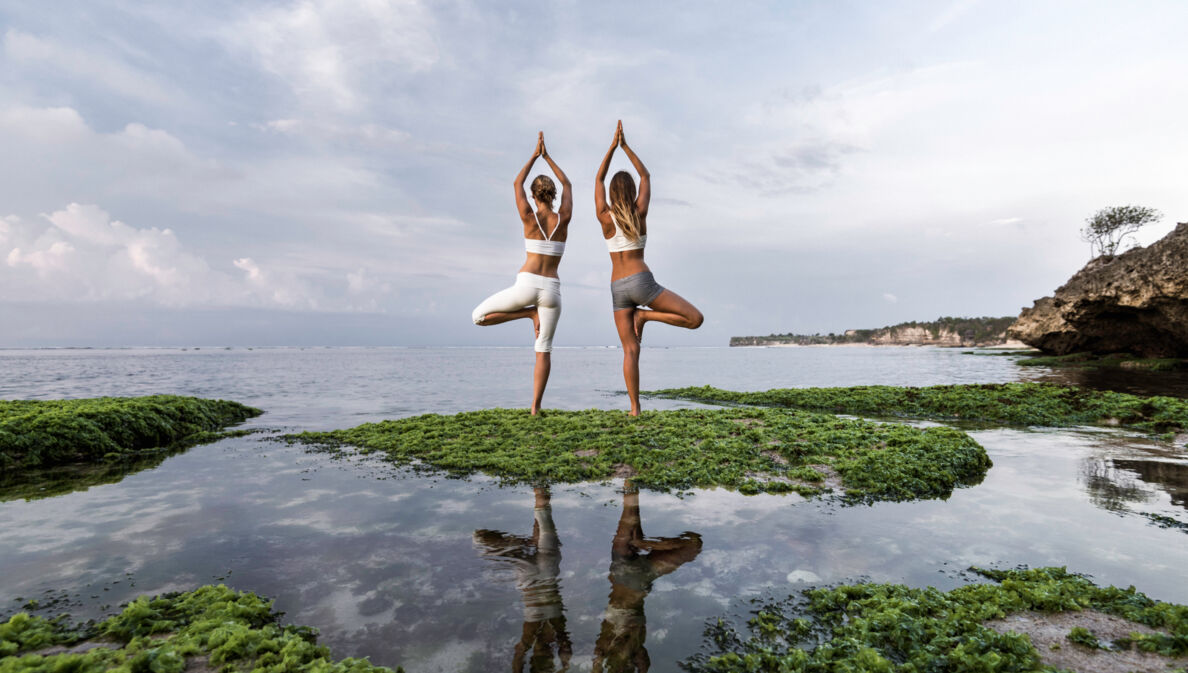
[[[544,157],[552,174],[561,181],[561,208],[552,212],[552,201],[557,197],[557,188],[546,175],[538,175],[532,181],[532,200],[536,210],[529,206],[524,194],[524,181],[532,170],[537,157]],[[532,375],[532,414],[541,410],[544,386],[549,383],[549,370],[552,367],[552,334],[557,329],[557,317],[561,316],[561,279],[557,266],[565,252],[565,238],[569,235],[569,218],[574,212],[573,189],[569,178],[549,156],[544,147],[544,133],[537,137],[536,150],[519,175],[516,176],[516,208],[524,224],[524,247],[527,258],[516,275],[516,284],[500,290],[474,308],[472,319],[475,325],[499,325],[522,317],[532,319],[536,333],[536,369]]]

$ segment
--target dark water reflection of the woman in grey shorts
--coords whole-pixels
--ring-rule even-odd
[[[631,482],[623,484],[623,515],[611,543],[611,602],[594,644],[595,673],[647,671],[651,660],[644,647],[647,636],[644,598],[656,578],[691,561],[700,552],[701,535],[696,533],[644,537],[639,490]]]

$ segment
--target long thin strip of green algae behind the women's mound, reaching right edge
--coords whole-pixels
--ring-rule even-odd
[[[1140,397],[1048,383],[898,388],[784,388],[735,392],[708,385],[647,392],[652,397],[830,411],[966,420],[1007,426],[1127,426],[1151,433],[1188,427],[1188,400]]]

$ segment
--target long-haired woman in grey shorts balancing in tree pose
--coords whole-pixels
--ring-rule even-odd
[[[611,199],[607,201],[604,182],[617,147],[623,147],[639,174],[639,194],[636,194],[636,181],[631,174],[619,171],[611,178]],[[639,415],[639,344],[644,338],[644,325],[656,320],[696,329],[703,320],[697,307],[672,290],[662,288],[644,263],[647,205],[651,197],[651,176],[636,152],[627,146],[620,121],[614,131],[614,141],[598,169],[594,208],[598,221],[602,225],[606,247],[611,251],[611,300],[614,304],[614,326],[623,341],[623,378],[627,383],[632,416]]]

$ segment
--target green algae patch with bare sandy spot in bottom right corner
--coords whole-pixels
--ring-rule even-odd
[[[1158,631],[1133,633],[1116,647],[1163,656],[1188,653],[1186,605],[1154,600],[1135,587],[1099,587],[1064,568],[973,570],[994,583],[947,592],[898,584],[807,590],[763,605],[741,629],[719,619],[706,631],[708,653],[682,667],[713,673],[1051,671],[1028,636],[986,625],[1029,610],[1114,615]]]

